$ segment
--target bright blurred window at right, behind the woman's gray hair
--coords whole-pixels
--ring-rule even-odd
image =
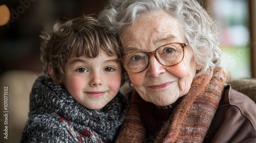
[[[208,0],[206,5],[222,33],[221,66],[228,70],[231,78],[251,77],[248,1]]]

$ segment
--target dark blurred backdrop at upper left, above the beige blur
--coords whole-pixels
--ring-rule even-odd
[[[75,18],[84,14],[98,14],[106,1],[82,0],[1,0],[0,74],[7,70],[41,71],[39,34],[42,29],[51,32],[58,17]],[[9,21],[8,21],[9,19]],[[5,25],[4,23],[7,22]],[[0,25],[1,25],[0,23]]]

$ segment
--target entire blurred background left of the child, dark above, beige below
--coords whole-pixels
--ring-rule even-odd
[[[29,93],[42,71],[39,34],[58,17],[98,15],[105,0],[0,0],[0,142],[19,142],[28,119]],[[4,87],[8,86],[8,139]]]

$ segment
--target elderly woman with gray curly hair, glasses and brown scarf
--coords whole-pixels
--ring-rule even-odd
[[[256,104],[226,84],[220,33],[197,1],[116,0],[99,21],[136,89],[117,142],[256,142]]]

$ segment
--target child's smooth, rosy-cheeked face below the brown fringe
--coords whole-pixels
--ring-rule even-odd
[[[122,68],[117,58],[103,50],[96,58],[71,56],[65,65],[64,86],[84,107],[100,110],[120,88]]]

